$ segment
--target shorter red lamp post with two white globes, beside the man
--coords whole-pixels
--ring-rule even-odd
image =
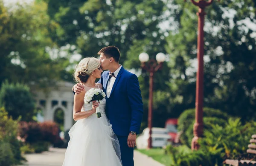
[[[157,70],[162,68],[163,62],[165,61],[164,53],[157,53],[156,60],[149,60],[149,56],[147,53],[140,53],[139,59],[141,62],[141,68],[147,72],[149,72],[149,97],[148,97],[148,129],[149,129],[149,137],[148,137],[148,149],[152,148],[152,119],[153,119],[153,82],[154,82],[154,73]],[[149,61],[148,61],[149,60]],[[147,62],[147,63],[146,63]]]

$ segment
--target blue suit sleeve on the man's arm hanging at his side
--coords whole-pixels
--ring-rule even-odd
[[[131,126],[130,131],[139,133],[140,124],[143,118],[143,102],[140,93],[138,77],[132,74],[128,80],[128,100],[131,105]]]

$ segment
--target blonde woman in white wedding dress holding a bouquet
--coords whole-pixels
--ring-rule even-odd
[[[76,66],[74,77],[84,85],[84,91],[74,96],[73,118],[76,122],[70,129],[70,141],[63,166],[122,166],[120,146],[105,114],[106,101],[84,103],[84,95],[91,88],[101,88],[95,83],[102,69],[96,58],[84,58]],[[102,117],[97,118],[96,107]]]

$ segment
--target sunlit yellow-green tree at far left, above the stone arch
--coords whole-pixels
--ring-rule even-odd
[[[0,1],[0,83],[25,82],[48,87],[61,78],[67,59],[53,58],[49,37],[58,24],[47,15],[47,3],[15,5],[11,10]]]

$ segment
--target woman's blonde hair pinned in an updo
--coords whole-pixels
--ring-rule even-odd
[[[76,82],[86,82],[89,76],[94,70],[100,67],[99,59],[96,58],[84,58],[78,65],[74,73]]]

